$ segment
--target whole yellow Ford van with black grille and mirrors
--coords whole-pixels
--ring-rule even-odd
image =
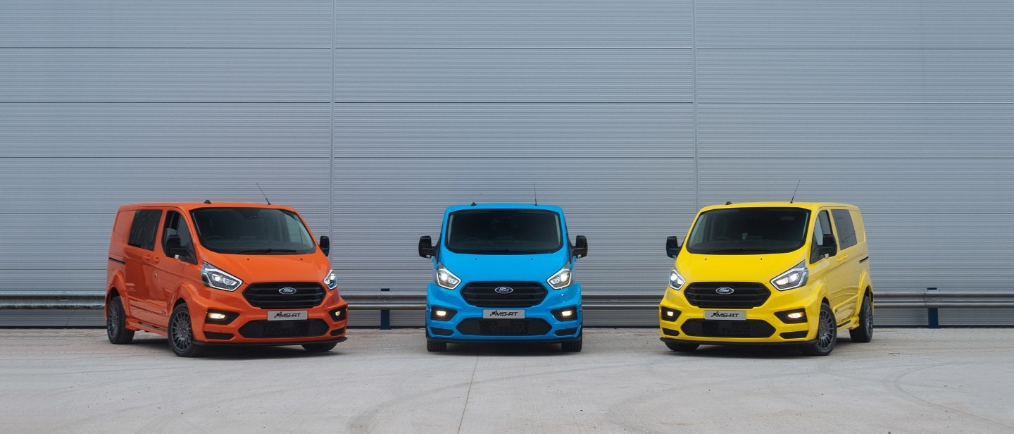
[[[873,338],[873,284],[859,208],[758,202],[701,209],[658,306],[672,351],[701,344],[794,344],[826,356],[838,330]]]

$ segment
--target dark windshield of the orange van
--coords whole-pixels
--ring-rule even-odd
[[[219,254],[301,255],[316,248],[296,213],[276,208],[191,211],[201,245]]]

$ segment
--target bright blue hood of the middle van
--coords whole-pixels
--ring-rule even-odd
[[[567,247],[544,255],[464,255],[441,251],[440,264],[462,282],[539,282],[568,265]]]

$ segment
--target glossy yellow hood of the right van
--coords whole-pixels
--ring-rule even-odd
[[[695,255],[684,250],[676,257],[676,270],[689,282],[768,284],[804,259],[799,250],[772,255]]]

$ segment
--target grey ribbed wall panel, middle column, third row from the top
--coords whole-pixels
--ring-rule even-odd
[[[659,158],[694,153],[690,103],[338,104],[336,156]],[[560,167],[566,171],[567,167]],[[586,173],[591,174],[591,173]]]

